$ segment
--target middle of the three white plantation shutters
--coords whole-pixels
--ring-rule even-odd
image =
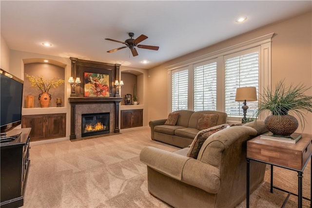
[[[216,110],[216,62],[194,65],[194,111]]]

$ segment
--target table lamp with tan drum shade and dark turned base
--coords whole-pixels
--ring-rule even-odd
[[[248,123],[252,120],[246,118],[247,109],[246,101],[257,101],[257,93],[255,87],[239,87],[236,89],[235,101],[243,102],[243,113],[242,124]]]

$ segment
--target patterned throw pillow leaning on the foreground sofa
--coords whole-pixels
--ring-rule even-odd
[[[206,141],[206,139],[212,135],[213,133],[222,130],[223,128],[225,128],[226,125],[222,124],[222,125],[216,125],[214,127],[208,128],[208,129],[204,129],[201,130],[197,133],[197,135],[195,136],[191,147],[187,153],[188,157],[193,157],[194,159],[197,159],[199,150],[201,148],[201,146],[204,144],[204,142]]]

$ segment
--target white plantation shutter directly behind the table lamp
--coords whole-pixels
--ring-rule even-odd
[[[228,116],[243,117],[243,102],[235,101],[236,88],[254,86],[258,92],[258,77],[259,52],[245,52],[245,55],[233,58],[225,57],[225,112]],[[247,102],[247,105],[247,116],[253,117],[257,110],[257,101]]]

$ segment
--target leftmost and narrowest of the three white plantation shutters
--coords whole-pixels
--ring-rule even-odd
[[[188,69],[172,72],[172,111],[188,109]]]

